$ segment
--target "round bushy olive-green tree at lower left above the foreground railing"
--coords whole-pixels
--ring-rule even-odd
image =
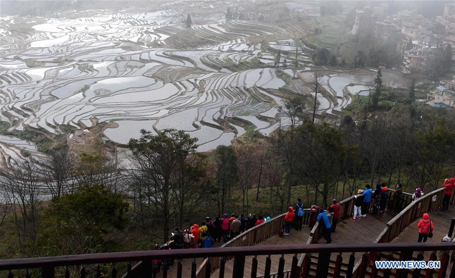
[[[127,222],[128,203],[103,185],[83,185],[73,194],[54,199],[44,212],[45,255],[99,253],[109,248],[113,230]]]

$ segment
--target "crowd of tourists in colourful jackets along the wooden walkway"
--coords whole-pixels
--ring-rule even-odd
[[[444,195],[441,210],[447,210],[450,196],[455,188],[455,178],[445,179],[443,187]],[[423,194],[422,190],[417,188],[416,192],[412,195],[412,201],[418,201],[422,198]],[[404,201],[400,183],[395,185],[395,194],[393,196],[393,200],[389,201],[388,208],[393,210],[393,214],[398,214],[403,208]],[[371,186],[367,184],[365,189],[359,189],[353,197],[355,198],[354,212],[350,220],[358,221],[362,217],[367,217],[367,214],[370,213],[370,207],[372,214],[383,213],[389,199],[389,190],[385,184],[378,183],[376,184],[376,189],[373,191]],[[319,223],[322,229],[322,236],[327,243],[331,243],[331,233],[336,231],[340,219],[340,203],[336,199],[333,199],[332,204],[327,209],[321,209],[318,205],[311,205],[309,213],[309,228],[312,229],[316,223]],[[284,233],[282,234],[289,236],[292,228],[296,231],[302,230],[303,216],[304,205],[299,198],[294,206],[289,207],[285,215],[285,227]],[[175,228],[170,241],[161,247],[156,245],[155,249],[211,248],[214,244],[220,244],[221,240],[228,242],[246,230],[269,220],[269,216],[262,218],[261,215],[256,217],[256,214],[250,214],[248,217],[244,217],[243,214],[237,215],[236,213],[232,213],[231,217],[226,213],[222,217],[215,217],[215,219],[206,217],[200,225],[194,224],[190,229],[180,231],[180,229]],[[434,225],[428,213],[423,214],[422,219],[418,223],[418,228],[418,242],[426,242],[429,237],[432,237]],[[156,269],[155,266],[159,268],[161,264],[161,260],[155,260],[154,269]],[[170,264],[172,264],[171,260],[166,263],[166,265]]]

